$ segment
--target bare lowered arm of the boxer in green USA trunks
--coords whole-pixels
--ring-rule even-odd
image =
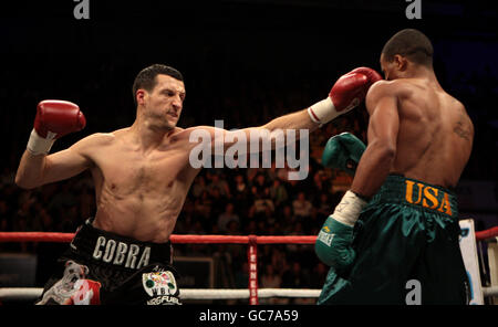
[[[373,197],[387,178],[396,156],[400,115],[395,89],[380,82],[366,95],[370,113],[367,139],[351,190],[365,198]]]

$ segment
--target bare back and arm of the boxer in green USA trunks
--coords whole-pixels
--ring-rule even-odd
[[[397,76],[383,56],[381,66],[387,81],[376,83],[366,97],[370,149],[352,189],[371,197],[386,173],[456,187],[474,139],[464,105],[443,89],[432,70],[418,66],[413,76]]]

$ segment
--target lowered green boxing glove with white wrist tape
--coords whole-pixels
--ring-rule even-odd
[[[366,204],[365,200],[347,191],[334,213],[329,215],[314,243],[314,252],[324,264],[343,270],[354,262],[353,228]]]

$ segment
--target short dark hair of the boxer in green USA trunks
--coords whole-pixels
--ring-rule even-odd
[[[424,33],[415,29],[405,29],[394,34],[385,43],[382,53],[387,62],[392,62],[394,55],[400,54],[414,63],[433,65],[433,44]]]

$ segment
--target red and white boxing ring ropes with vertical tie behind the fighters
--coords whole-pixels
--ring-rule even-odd
[[[0,242],[71,242],[74,233],[46,232],[0,232]],[[476,241],[498,240],[498,226],[476,232]],[[250,305],[259,304],[259,298],[268,297],[318,297],[321,289],[311,288],[258,288],[258,244],[314,244],[317,236],[284,235],[180,235],[173,234],[169,240],[176,244],[248,244],[249,287],[248,289],[183,288],[183,299],[237,299],[249,298]],[[30,299],[41,295],[43,288],[3,287],[0,299]],[[485,296],[498,296],[498,286],[483,287]],[[216,295],[214,295],[216,294]]]

